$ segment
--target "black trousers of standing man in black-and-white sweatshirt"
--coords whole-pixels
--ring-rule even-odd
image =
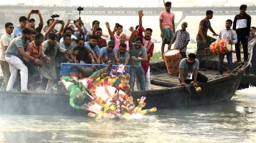
[[[248,61],[248,40],[246,40],[245,37],[243,37],[243,38],[238,38],[237,37],[237,43],[235,45],[235,47],[236,47],[236,58],[237,58],[237,60],[241,60],[240,41],[243,45],[244,61]]]

